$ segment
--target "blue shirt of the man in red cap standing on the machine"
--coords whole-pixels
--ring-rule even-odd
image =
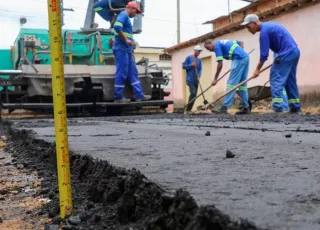
[[[122,31],[124,35],[130,39],[132,42],[133,40],[133,32],[132,32],[132,23],[130,21],[130,17],[127,12],[122,11],[118,16],[117,20],[113,26],[113,33],[115,35],[114,43],[112,49],[115,50],[122,50],[128,53],[132,53],[133,47],[129,46],[122,37],[120,37],[119,32]]]

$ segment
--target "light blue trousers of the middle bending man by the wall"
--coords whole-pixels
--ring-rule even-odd
[[[238,85],[240,82],[245,81],[248,77],[248,72],[249,57],[232,60],[231,74],[227,82],[227,91],[232,89],[234,86]],[[238,89],[243,108],[249,108],[247,83],[240,86]],[[233,103],[235,94],[236,90],[226,95],[223,99],[223,106],[230,107]]]

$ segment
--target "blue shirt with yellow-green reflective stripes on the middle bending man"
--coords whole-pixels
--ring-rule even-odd
[[[248,54],[240,46],[240,41],[218,40],[214,43],[213,51],[216,54],[217,61],[242,59],[248,57]]]

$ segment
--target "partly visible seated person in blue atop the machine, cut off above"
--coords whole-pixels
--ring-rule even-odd
[[[93,5],[93,11],[98,13],[107,22],[110,22],[110,27],[113,27],[113,24],[116,19],[116,14],[110,9],[110,1],[114,8],[124,8],[126,4],[132,0],[99,0]]]

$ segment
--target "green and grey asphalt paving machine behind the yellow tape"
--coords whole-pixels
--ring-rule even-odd
[[[129,84],[124,96],[130,103],[114,103],[115,58],[112,52],[112,28],[102,29],[94,22],[93,5],[89,0],[84,26],[79,30],[63,30],[64,77],[67,111],[100,111],[121,114],[126,110],[157,107],[166,110],[172,101],[164,100],[169,77],[162,70],[149,67],[148,59],[136,60],[138,76],[145,95],[150,101],[135,102]],[[112,5],[109,9],[116,16],[125,10],[128,1]],[[121,1],[120,1],[121,3]],[[137,1],[144,12],[144,0]],[[142,17],[133,21],[133,32],[142,32]],[[0,105],[10,112],[16,109],[41,112],[53,111],[50,36],[46,29],[21,28],[8,50],[0,50]]]

